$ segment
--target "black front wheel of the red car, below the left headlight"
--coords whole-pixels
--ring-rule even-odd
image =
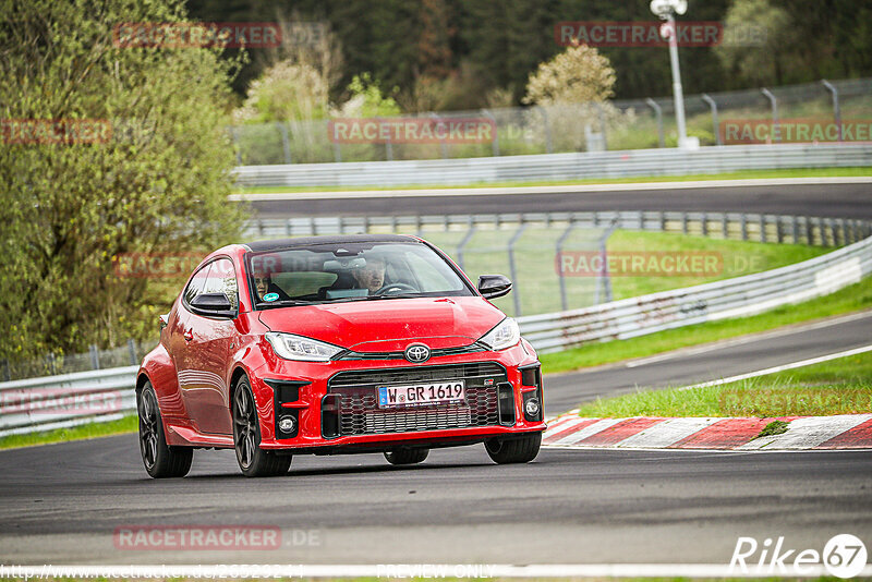
[[[246,477],[283,475],[291,466],[290,454],[277,454],[261,448],[261,422],[249,378],[241,377],[233,392],[233,448],[237,462]]]

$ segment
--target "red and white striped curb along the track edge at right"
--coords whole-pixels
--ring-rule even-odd
[[[788,423],[787,432],[754,438],[773,421]],[[548,423],[542,445],[569,449],[872,449],[872,414],[777,419],[582,419],[571,411]]]

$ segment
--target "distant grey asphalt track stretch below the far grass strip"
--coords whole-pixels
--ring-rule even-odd
[[[638,190],[596,190],[517,195],[451,196],[367,194],[343,198],[336,193],[289,195],[284,199],[255,201],[255,214],[266,218],[299,216],[400,216],[489,213],[544,213],[592,210],[687,210],[763,213],[815,217],[872,218],[872,183],[761,184],[718,187],[663,187],[626,184]],[[453,191],[460,192],[460,191]],[[410,194],[414,194],[411,192]],[[353,195],[353,194],[352,194]],[[281,198],[281,196],[276,196]]]

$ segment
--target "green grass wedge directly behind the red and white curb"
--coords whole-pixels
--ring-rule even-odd
[[[722,386],[638,392],[583,404],[586,417],[827,416],[872,412],[872,352]],[[767,426],[778,434],[780,425]],[[765,436],[761,433],[760,436]]]

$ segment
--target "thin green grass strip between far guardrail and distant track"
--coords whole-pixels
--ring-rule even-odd
[[[638,175],[630,178],[592,178],[585,180],[552,180],[533,182],[471,182],[469,184],[408,184],[396,186],[250,186],[238,187],[237,194],[274,194],[286,192],[348,192],[354,190],[424,190],[463,187],[559,186],[590,184],[638,184],[646,182],[692,182],[698,180],[749,180],[755,178],[833,178],[869,177],[872,167],[856,168],[796,168],[784,170],[742,170],[726,173],[689,175]]]

